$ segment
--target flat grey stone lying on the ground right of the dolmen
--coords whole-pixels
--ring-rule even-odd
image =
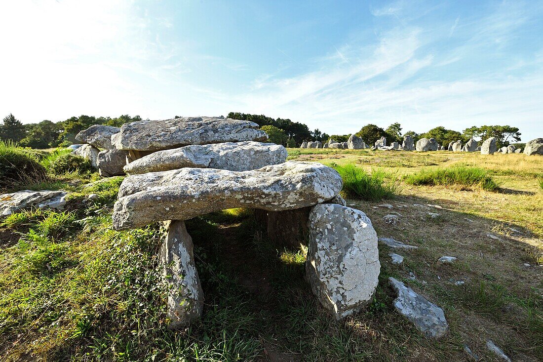
[[[394,299],[394,308],[411,321],[415,328],[427,338],[439,338],[449,330],[443,309],[417,294],[413,289],[395,278],[388,278],[398,296]]]

